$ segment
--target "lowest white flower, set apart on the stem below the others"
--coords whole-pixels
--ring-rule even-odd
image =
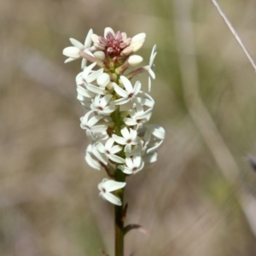
[[[110,201],[114,205],[121,206],[122,202],[119,200],[119,198],[110,192],[113,192],[118,189],[123,189],[125,187],[126,183],[119,183],[116,181],[113,181],[108,178],[103,178],[102,183],[98,184],[98,189],[101,191],[100,196],[102,196],[103,199]]]

